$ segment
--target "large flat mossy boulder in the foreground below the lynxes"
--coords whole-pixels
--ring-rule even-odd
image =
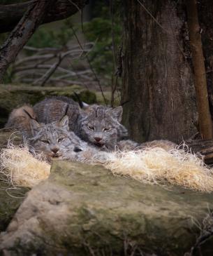
[[[212,194],[56,161],[1,234],[0,255],[184,255],[212,208]]]

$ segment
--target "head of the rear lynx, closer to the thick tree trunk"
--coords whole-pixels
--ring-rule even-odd
[[[127,130],[122,124],[121,106],[103,107],[92,105],[81,113],[80,137],[102,149],[114,149],[118,140],[126,137]]]

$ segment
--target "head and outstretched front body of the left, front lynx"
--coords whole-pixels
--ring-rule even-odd
[[[31,129],[33,137],[28,139],[31,151],[42,153],[48,161],[67,159],[91,163],[94,159],[107,159],[106,152],[89,146],[69,130],[68,116],[64,116],[61,121],[47,124],[31,120]]]

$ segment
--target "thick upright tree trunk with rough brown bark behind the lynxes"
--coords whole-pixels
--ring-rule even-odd
[[[124,4],[124,124],[139,142],[196,133],[195,88],[184,1]],[[189,56],[189,60],[187,57]]]

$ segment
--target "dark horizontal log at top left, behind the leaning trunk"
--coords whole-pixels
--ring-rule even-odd
[[[0,5],[0,33],[11,31],[20,21],[24,13],[35,1],[19,4]],[[87,0],[57,0],[47,10],[42,23],[62,20],[81,10]]]

